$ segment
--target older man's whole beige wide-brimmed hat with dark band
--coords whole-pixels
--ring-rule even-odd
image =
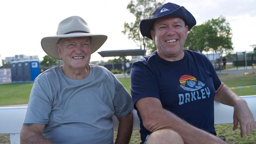
[[[41,46],[46,54],[55,59],[60,59],[56,44],[59,39],[69,37],[91,37],[91,54],[98,50],[108,38],[106,35],[91,33],[83,18],[72,16],[59,23],[57,35],[44,37],[41,40]]]

